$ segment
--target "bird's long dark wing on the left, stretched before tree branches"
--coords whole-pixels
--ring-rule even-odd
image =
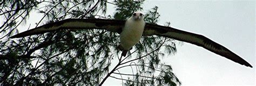
[[[43,34],[45,32],[52,32],[65,29],[104,29],[107,31],[120,33],[125,20],[112,19],[65,19],[56,21],[54,23],[45,24],[31,30],[16,34],[10,38],[26,37],[28,35]]]

